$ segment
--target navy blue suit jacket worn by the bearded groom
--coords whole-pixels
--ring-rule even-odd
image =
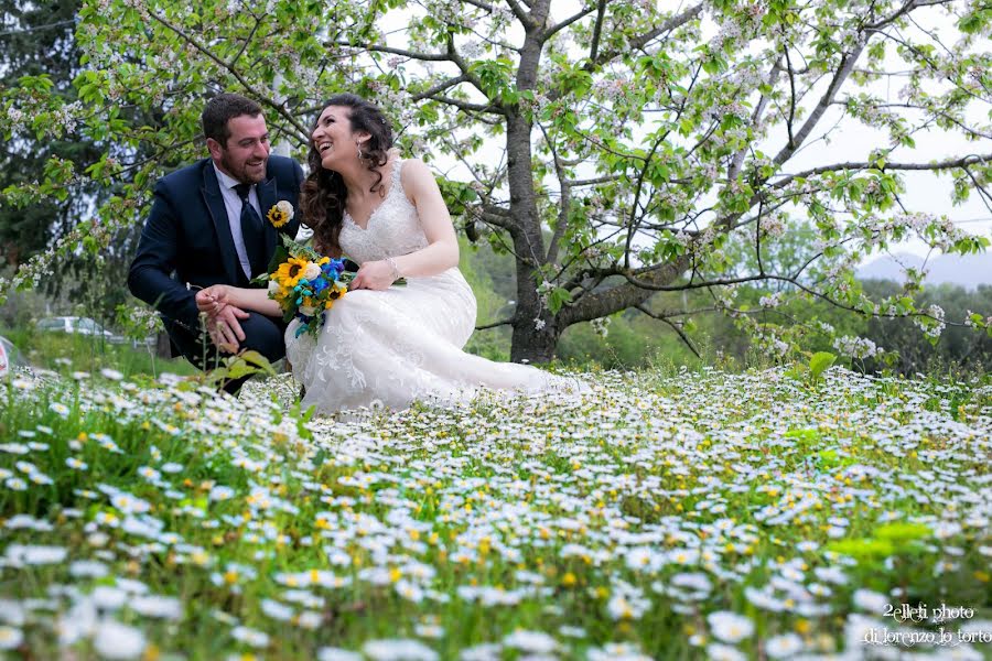
[[[303,170],[292,159],[269,156],[266,181],[258,184],[258,202],[271,259],[279,232],[295,236]],[[244,272],[230,236],[230,224],[217,173],[211,159],[169,174],[155,185],[155,198],[141,232],[138,254],[128,272],[131,293],[152,305],[169,322],[200,327],[196,290],[212,284],[239,284]],[[293,205],[293,219],[278,231],[265,216],[276,203]]]

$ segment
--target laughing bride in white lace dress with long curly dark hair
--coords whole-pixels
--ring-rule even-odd
[[[325,312],[316,338],[285,332],[287,358],[321,413],[413,400],[452,402],[479,388],[535,393],[572,383],[537,368],[462,351],[475,327],[475,296],[459,271],[459,245],[434,177],[400,160],[392,131],[370,102],[332,97],[311,134],[310,176],[300,206],[323,254],[360,268],[348,293]],[[403,278],[405,286],[390,286]],[[202,311],[227,304],[280,316],[266,290],[214,285]]]

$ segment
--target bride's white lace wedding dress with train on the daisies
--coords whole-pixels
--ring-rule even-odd
[[[428,246],[393,165],[385,199],[360,228],[345,213],[339,242],[354,261],[399,257]],[[354,290],[327,311],[316,338],[285,332],[287,358],[321,413],[362,407],[406,409],[413,400],[453,402],[479,388],[536,393],[575,384],[535,367],[462,351],[475,327],[475,296],[457,268],[408,278],[386,291]]]

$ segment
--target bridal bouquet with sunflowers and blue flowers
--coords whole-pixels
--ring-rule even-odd
[[[300,319],[296,337],[303,333],[316,336],[324,324],[324,311],[348,291],[354,273],[345,271],[344,260],[317,254],[312,248],[282,237],[269,262],[269,274],[256,281],[268,281],[269,297],[279,303],[282,321]]]

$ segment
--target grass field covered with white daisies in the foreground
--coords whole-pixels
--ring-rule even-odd
[[[335,422],[293,410],[288,376],[234,400],[17,375],[0,649],[989,658],[988,380],[583,378],[582,397]]]

